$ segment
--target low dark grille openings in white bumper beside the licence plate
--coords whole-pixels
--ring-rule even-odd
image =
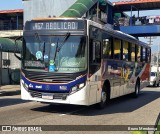
[[[43,92],[29,90],[30,95],[34,98],[42,98]],[[53,99],[62,99],[65,100],[69,93],[49,93],[53,96]]]

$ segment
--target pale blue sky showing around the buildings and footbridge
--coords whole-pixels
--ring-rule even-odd
[[[110,2],[116,1],[125,1],[125,0],[110,0]],[[0,0],[0,10],[13,10],[13,9],[23,9],[22,0]],[[130,13],[127,13],[130,15]],[[137,12],[134,12],[137,16]],[[160,10],[153,10],[153,11],[140,11],[140,16],[151,16],[151,15],[159,15]],[[144,37],[139,38],[141,41],[148,43],[149,39],[145,39]],[[160,45],[160,37],[154,37],[152,42],[152,52],[157,52],[158,45]]]

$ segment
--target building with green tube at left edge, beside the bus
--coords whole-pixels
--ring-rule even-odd
[[[21,63],[14,56],[15,39],[23,34],[23,10],[0,11],[0,85],[19,82]],[[17,53],[20,53],[17,51]]]

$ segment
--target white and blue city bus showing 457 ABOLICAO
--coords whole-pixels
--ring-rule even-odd
[[[23,33],[21,98],[93,105],[137,97],[149,84],[151,48],[84,18],[37,18]]]

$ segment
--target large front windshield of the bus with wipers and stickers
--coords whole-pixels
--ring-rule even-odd
[[[85,36],[25,36],[22,67],[34,71],[80,72],[87,68]]]

